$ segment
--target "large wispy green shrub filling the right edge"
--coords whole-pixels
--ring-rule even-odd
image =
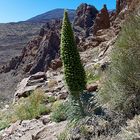
[[[103,78],[99,101],[129,117],[140,109],[140,17],[122,28],[114,48],[109,70]]]

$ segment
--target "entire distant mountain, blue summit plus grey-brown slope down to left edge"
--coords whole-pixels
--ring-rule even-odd
[[[75,10],[68,9],[70,20],[74,20]],[[54,9],[31,19],[20,22],[0,23],[0,65],[15,55],[20,55],[26,44],[37,36],[41,27],[53,19],[62,19],[64,9]]]

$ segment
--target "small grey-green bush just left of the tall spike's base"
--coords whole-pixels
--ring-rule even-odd
[[[54,102],[52,106],[52,121],[61,122],[67,119],[67,106],[62,101]]]

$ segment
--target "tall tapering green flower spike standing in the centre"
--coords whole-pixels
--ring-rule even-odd
[[[80,55],[66,11],[61,31],[61,58],[69,91],[71,94],[83,91],[86,85],[85,71],[80,61]]]

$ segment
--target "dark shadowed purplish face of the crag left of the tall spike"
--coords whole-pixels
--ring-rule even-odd
[[[40,44],[40,49],[38,50],[37,57],[34,64],[30,70],[31,74],[38,71],[46,71],[49,67],[51,60],[58,56],[60,39],[59,35],[52,31],[50,33],[49,39]]]

